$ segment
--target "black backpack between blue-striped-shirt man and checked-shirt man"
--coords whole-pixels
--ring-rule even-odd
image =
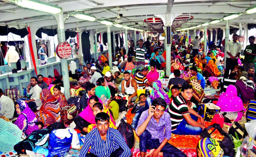
[[[126,144],[131,149],[134,145],[134,133],[131,128],[131,124],[126,123],[123,119],[121,119],[121,123],[119,124],[117,130],[120,132],[122,137],[125,139]]]

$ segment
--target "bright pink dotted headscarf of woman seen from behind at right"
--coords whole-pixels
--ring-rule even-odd
[[[216,104],[221,112],[238,112],[244,110],[242,100],[237,96],[237,89],[229,85],[226,92],[222,93]]]

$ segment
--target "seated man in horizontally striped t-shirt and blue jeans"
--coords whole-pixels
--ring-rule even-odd
[[[190,99],[193,95],[192,86],[185,84],[181,88],[181,95],[175,97],[168,108],[171,116],[172,133],[178,135],[200,135],[204,129],[204,119],[191,107]],[[188,102],[189,101],[189,102]],[[197,119],[200,123],[197,123]]]

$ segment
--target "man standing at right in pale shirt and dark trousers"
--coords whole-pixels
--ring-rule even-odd
[[[226,70],[224,74],[224,78],[228,78],[229,70],[233,70],[237,65],[238,56],[241,54],[242,46],[239,42],[237,42],[238,35],[233,35],[233,40],[229,41],[226,46]]]

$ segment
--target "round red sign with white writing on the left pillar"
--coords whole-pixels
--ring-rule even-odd
[[[72,54],[72,48],[67,42],[60,42],[56,47],[56,54],[62,59],[67,59]]]

